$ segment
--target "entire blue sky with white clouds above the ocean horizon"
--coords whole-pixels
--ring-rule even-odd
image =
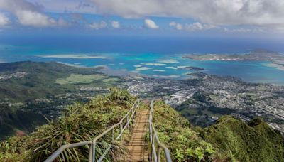
[[[279,0],[0,0],[0,36],[92,33],[284,36]]]

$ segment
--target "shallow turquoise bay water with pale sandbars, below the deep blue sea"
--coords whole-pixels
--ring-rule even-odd
[[[268,82],[284,85],[284,71],[269,68],[259,61],[198,61],[182,58],[184,54],[164,53],[75,53],[72,50],[42,50],[31,47],[0,46],[0,62],[21,60],[56,61],[75,66],[104,66],[110,70],[137,72],[160,78],[186,79],[193,70],[184,66],[204,68],[202,72],[231,75],[247,82]]]

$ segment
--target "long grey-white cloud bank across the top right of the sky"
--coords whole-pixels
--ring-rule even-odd
[[[124,18],[165,16],[194,18],[215,25],[282,25],[284,1],[279,0],[92,0],[97,13]]]

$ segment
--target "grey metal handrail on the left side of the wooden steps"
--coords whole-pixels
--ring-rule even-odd
[[[90,145],[90,147],[89,147],[89,162],[94,162],[95,158],[96,158],[96,143],[97,143],[97,140],[102,138],[102,136],[108,134],[110,131],[111,131],[111,137],[112,137],[113,141],[116,141],[118,139],[122,140],[124,130],[126,128],[129,128],[129,124],[134,119],[134,115],[136,115],[136,109],[139,107],[139,104],[140,104],[140,100],[137,99],[136,102],[131,107],[131,109],[129,110],[129,112],[126,113],[126,115],[119,121],[119,123],[114,124],[109,129],[102,132],[102,134],[99,134],[98,136],[96,136],[92,141],[82,141],[82,142],[78,142],[78,143],[75,143],[75,144],[62,145],[48,159],[46,159],[45,162],[54,161],[60,155],[60,153],[65,151],[67,148],[75,148],[75,147],[86,146],[86,145]],[[131,116],[129,117],[130,114],[131,114]],[[124,125],[124,121],[126,121],[125,125]],[[116,136],[116,138],[114,138],[114,131],[115,131],[116,127],[118,127],[118,126],[120,128],[119,135]],[[98,162],[104,160],[104,157],[107,155],[107,153],[109,152],[110,149],[111,149],[111,146],[109,146],[104,151],[104,153],[102,153],[102,156],[99,157]]]

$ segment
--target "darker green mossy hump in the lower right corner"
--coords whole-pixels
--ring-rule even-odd
[[[204,129],[204,139],[238,161],[284,161],[283,136],[262,119],[224,116]]]

